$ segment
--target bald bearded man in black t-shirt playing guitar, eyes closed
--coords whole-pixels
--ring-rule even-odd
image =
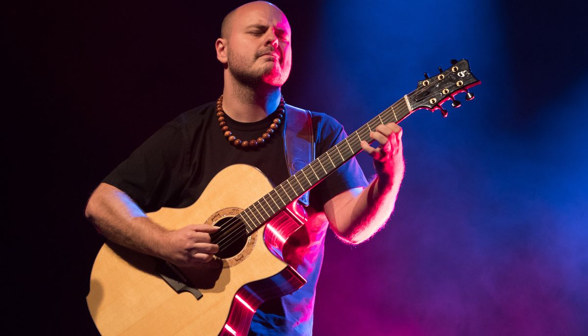
[[[274,184],[288,178],[282,132],[270,129],[278,129],[275,119],[283,117],[280,88],[292,65],[290,36],[288,19],[268,2],[250,2],[226,16],[215,45],[224,68],[222,96],[216,105],[197,107],[166,124],[96,188],[86,216],[106,238],[178,266],[206,263],[218,252],[209,236],[217,227],[193,223],[168,231],[145,212],[192,204],[230,164],[252,164]],[[285,106],[285,113],[289,108]],[[317,156],[346,137],[342,126],[322,113],[312,113],[312,123]],[[351,244],[365,241],[385,224],[404,172],[401,136],[400,127],[390,123],[370,133],[381,144],[378,148],[362,142],[377,171],[369,185],[352,159],[312,189],[309,208],[314,215],[286,256],[308,283],[263,304],[251,334],[312,333],[327,223]]]

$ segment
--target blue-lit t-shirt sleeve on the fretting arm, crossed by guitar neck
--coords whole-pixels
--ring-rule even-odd
[[[313,123],[316,125],[316,157],[347,137],[343,126],[333,117],[316,113],[313,116]],[[359,163],[353,157],[310,191],[310,201],[322,209],[327,201],[343,191],[366,186],[368,186],[368,181],[359,167]]]

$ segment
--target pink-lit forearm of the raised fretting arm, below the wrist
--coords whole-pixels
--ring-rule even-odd
[[[333,230],[343,240],[359,244],[386,224],[394,210],[402,182],[402,172],[395,177],[378,176],[359,194],[347,193],[332,209]]]

